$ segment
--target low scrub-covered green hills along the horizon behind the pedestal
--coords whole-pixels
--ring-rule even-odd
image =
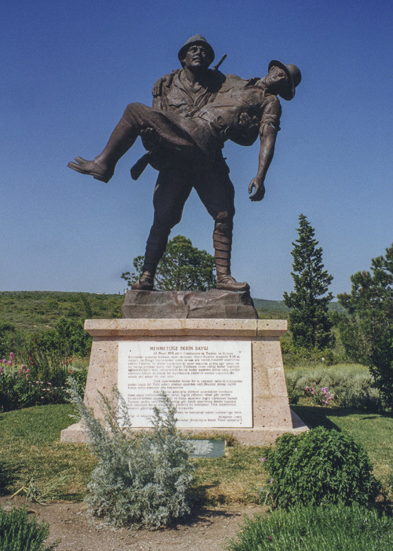
[[[101,293],[65,293],[61,291],[1,291],[0,320],[17,329],[43,331],[62,318],[123,318],[124,295]],[[286,319],[288,307],[282,300],[253,299],[259,318]],[[338,302],[330,309],[344,311]]]

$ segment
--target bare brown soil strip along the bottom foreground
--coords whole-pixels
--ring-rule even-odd
[[[111,528],[87,513],[83,503],[59,502],[41,506],[23,497],[0,497],[3,509],[26,505],[37,521],[50,523],[49,544],[58,538],[56,551],[222,551],[235,537],[244,514],[249,517],[266,512],[266,506],[238,506],[226,509],[201,509],[173,528],[129,530]]]

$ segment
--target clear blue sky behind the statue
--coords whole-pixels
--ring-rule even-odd
[[[108,185],[67,168],[94,158],[127,103],[178,67],[200,33],[221,69],[263,76],[271,59],[303,80],[282,101],[282,131],[262,202],[248,199],[258,145],[228,144],[235,185],[233,275],[281,300],[298,216],[315,227],[335,294],[393,240],[392,3],[389,0],[69,0],[1,9],[0,290],[123,292],[144,253],[156,171],[134,182],[137,143]],[[213,221],[195,192],[173,229],[213,252]]]

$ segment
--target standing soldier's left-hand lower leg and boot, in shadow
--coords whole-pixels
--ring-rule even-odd
[[[143,262],[142,275],[137,282],[131,285],[134,291],[152,291],[154,285],[154,275],[158,262],[167,247],[170,229],[162,227],[153,222],[149,238],[147,238],[145,261]]]

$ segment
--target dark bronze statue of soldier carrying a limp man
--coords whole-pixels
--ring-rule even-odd
[[[196,34],[178,53],[182,69],[159,79],[153,107],[130,103],[102,153],[94,160],[76,157],[68,166],[107,183],[116,163],[141,136],[148,153],[131,169],[138,178],[149,163],[158,169],[153,225],[147,239],[143,273],[132,289],[151,290],[169,233],[180,222],[184,203],[194,187],[215,221],[213,245],[217,289],[248,291],[231,275],[234,188],[222,156],[227,140],[252,145],[260,138],[257,175],[248,186],[252,201],[264,198],[264,179],[273,158],[281,106],[295,96],[301,74],[295,65],[271,61],[263,79],[240,79],[209,69],[211,45]]]

